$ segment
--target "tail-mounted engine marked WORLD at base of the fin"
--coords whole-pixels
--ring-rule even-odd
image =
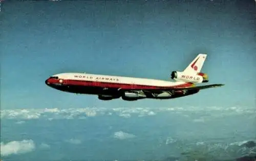
[[[208,76],[204,73],[198,73],[194,75],[179,71],[173,71],[172,74],[170,74],[170,78],[174,79],[175,81],[190,82],[194,84],[208,82]]]

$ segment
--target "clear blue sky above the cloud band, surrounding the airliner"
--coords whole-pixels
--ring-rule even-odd
[[[2,3],[1,108],[91,106],[255,106],[253,1]],[[118,6],[118,7],[117,7]],[[45,79],[61,72],[170,80],[198,53],[202,72],[222,88],[171,100],[60,92]]]

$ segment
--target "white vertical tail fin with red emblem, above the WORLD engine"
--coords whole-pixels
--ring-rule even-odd
[[[206,54],[199,53],[199,55],[186,67],[183,72],[190,74],[199,73],[203,67],[206,57]]]

